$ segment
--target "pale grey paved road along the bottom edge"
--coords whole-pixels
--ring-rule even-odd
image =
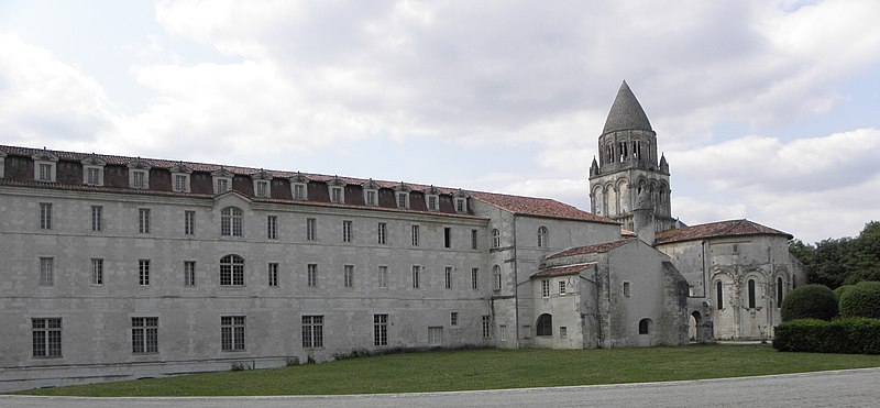
[[[327,397],[76,398],[0,395],[0,407],[876,407],[880,368],[692,382]]]

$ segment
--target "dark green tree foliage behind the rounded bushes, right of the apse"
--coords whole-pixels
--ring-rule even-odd
[[[804,264],[812,284],[837,288],[880,280],[880,221],[865,224],[857,238],[827,239],[815,244],[793,240],[789,251]]]

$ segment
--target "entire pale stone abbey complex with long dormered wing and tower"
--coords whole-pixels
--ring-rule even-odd
[[[804,282],[791,235],[678,222],[669,168],[626,82],[588,169],[590,212],[0,145],[0,390],[355,349],[769,338]]]

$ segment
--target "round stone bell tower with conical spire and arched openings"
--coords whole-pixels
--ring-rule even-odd
[[[663,231],[675,225],[670,194],[669,164],[657,154],[657,133],[624,81],[598,136],[598,159],[593,157],[590,166],[591,210],[636,231],[636,201],[647,195],[654,230]]]

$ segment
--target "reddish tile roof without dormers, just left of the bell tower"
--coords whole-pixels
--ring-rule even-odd
[[[575,207],[549,198],[509,196],[482,191],[472,191],[471,196],[515,214],[619,224],[619,222],[609,218],[579,210]]]

